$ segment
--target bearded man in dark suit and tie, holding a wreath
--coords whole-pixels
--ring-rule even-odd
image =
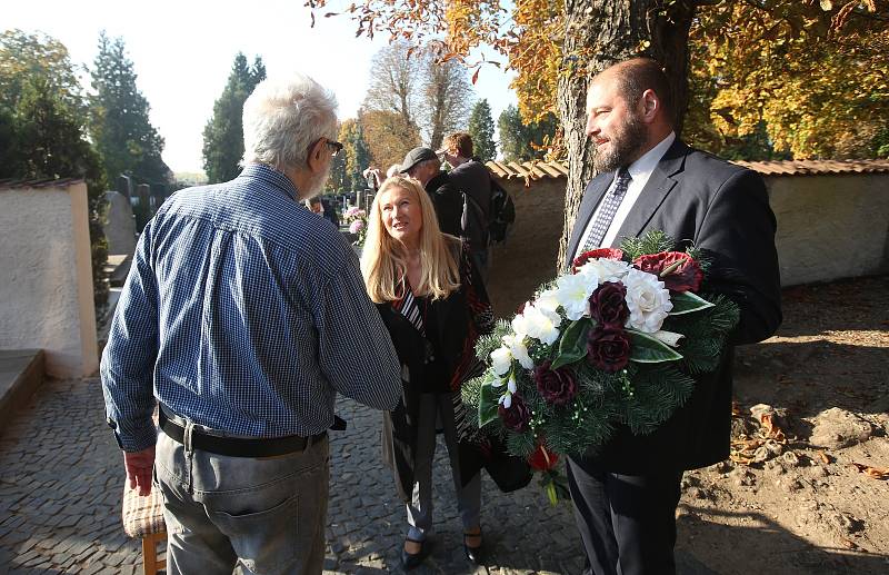
[[[733,345],[771,336],[781,323],[775,215],[762,179],[682,143],[660,66],[637,58],[593,78],[587,136],[599,175],[583,192],[568,258],[625,237],[663,230],[707,251],[705,288],[741,310],[718,369],[697,377],[685,406],[645,436],[619,426],[600,449],[569,458],[575,517],[589,573],[676,573],[676,507],[686,469],[728,457]]]

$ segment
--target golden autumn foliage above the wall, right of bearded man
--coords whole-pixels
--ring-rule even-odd
[[[687,136],[718,153],[765,130],[777,152],[793,158],[870,157],[876,136],[889,129],[886,4],[701,8],[690,36]]]

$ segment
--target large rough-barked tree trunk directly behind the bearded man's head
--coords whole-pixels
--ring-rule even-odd
[[[590,79],[633,56],[655,58],[673,81],[681,126],[688,101],[688,31],[695,4],[693,0],[566,0],[558,106],[568,149],[568,187],[558,270],[565,265],[568,235],[583,188],[593,177],[593,148],[583,132]]]

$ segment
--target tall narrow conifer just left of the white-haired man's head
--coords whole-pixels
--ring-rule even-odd
[[[203,128],[203,170],[210,184],[228,181],[241,168],[243,157],[243,102],[266,79],[266,66],[257,57],[253,66],[238,52],[222,95],[213,103],[213,116]]]

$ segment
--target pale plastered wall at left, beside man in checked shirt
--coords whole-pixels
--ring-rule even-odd
[[[98,367],[87,186],[0,189],[0,348],[42,348],[47,373]]]

